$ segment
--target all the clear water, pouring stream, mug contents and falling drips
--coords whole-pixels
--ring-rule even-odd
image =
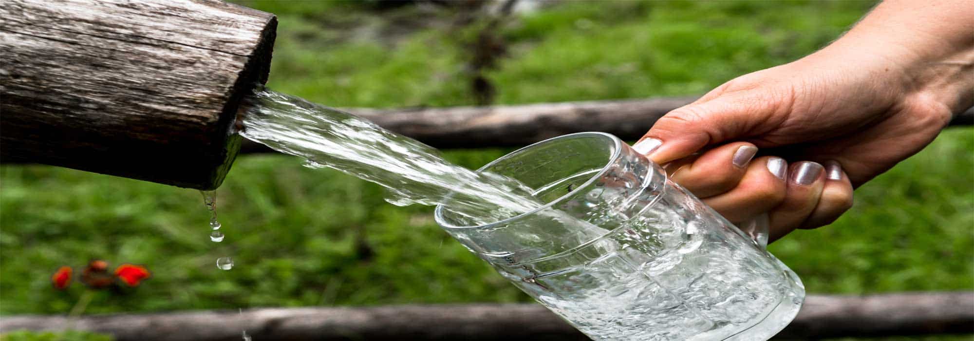
[[[428,145],[340,110],[267,90],[255,92],[247,101],[239,132],[244,137],[304,158],[308,167],[340,170],[378,183],[389,189],[387,201],[394,205],[449,203],[449,210],[456,213],[452,215],[466,217],[466,221],[458,218],[458,222],[469,226],[540,208],[546,198],[544,193],[549,187],[537,190],[536,197],[535,191],[514,179],[454,165]],[[585,179],[592,174],[584,172],[579,176]],[[557,183],[560,188],[562,182]],[[566,190],[573,191],[571,185]],[[512,237],[511,245],[517,246],[518,239],[546,241],[544,236],[557,233],[541,233],[543,228],[556,226],[557,231],[572,231],[572,238],[591,241],[580,244],[571,257],[529,258],[533,265],[528,267],[523,265],[527,263],[515,261],[512,252],[502,255],[475,251],[494,257],[491,259],[498,260],[495,265],[504,259],[507,264],[501,266],[509,267],[499,269],[502,274],[597,340],[723,339],[764,321],[772,310],[778,311],[779,302],[793,302],[787,298],[804,294],[797,288],[801,284],[792,287],[788,286],[793,284],[787,282],[790,280],[782,281],[780,268],[768,257],[762,257],[759,252],[764,251],[755,248],[750,240],[731,240],[740,237],[732,235],[736,237],[721,237],[722,243],[704,245],[701,238],[716,240],[716,233],[699,237],[704,234],[687,232],[693,224],[721,223],[706,214],[693,216],[695,211],[681,210],[695,208],[692,197],[670,194],[667,198],[683,199],[676,204],[656,205],[631,217],[610,209],[608,205],[614,202],[605,200],[612,195],[603,191],[606,190],[590,192],[602,201],[589,204],[607,205],[592,208],[597,215],[581,219],[559,208],[539,209],[532,214],[545,215],[551,223],[533,230],[518,226],[519,235]],[[627,192],[610,193],[621,196]],[[212,212],[210,226],[218,232],[215,195],[205,193],[204,197]],[[687,216],[693,219],[688,220]],[[715,226],[708,230],[731,236],[729,230]],[[611,231],[624,233],[609,234]],[[503,234],[490,236],[491,243],[505,243]],[[693,238],[699,243],[690,243]],[[213,241],[222,239],[221,234]],[[669,249],[677,251],[665,252]],[[582,253],[590,261],[580,267],[574,262],[581,259],[576,254]],[[535,254],[521,252],[518,256]],[[217,260],[220,269],[232,266],[230,257]],[[537,269],[547,270],[539,273]],[[717,290],[725,287],[746,289]],[[778,315],[785,319],[777,320],[790,321],[801,303],[794,302],[782,306],[784,310]],[[706,307],[706,312],[698,307]],[[780,330],[778,326],[784,324],[777,320],[754,333]],[[245,331],[243,336],[248,338]]]

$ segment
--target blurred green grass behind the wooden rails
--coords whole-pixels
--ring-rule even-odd
[[[503,17],[463,3],[239,2],[279,16],[270,88],[361,107],[702,94],[813,52],[874,4],[524,3]],[[836,223],[769,248],[812,293],[974,289],[972,150],[974,130],[948,130],[858,189]],[[506,151],[445,154],[473,169]],[[337,171],[245,155],[218,190],[226,240],[214,244],[196,191],[3,166],[0,314],[65,313],[82,287],[56,291],[50,276],[94,258],[153,278],[99,293],[89,313],[529,301],[441,232],[431,208],[382,198]],[[230,271],[215,266],[225,255]]]

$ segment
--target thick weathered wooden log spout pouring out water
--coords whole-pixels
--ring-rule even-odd
[[[276,27],[221,1],[0,1],[0,161],[215,188]]]

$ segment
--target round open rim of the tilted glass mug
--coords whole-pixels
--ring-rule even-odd
[[[557,142],[559,140],[564,140],[564,139],[572,139],[572,138],[579,138],[579,137],[591,137],[591,136],[605,137],[605,138],[608,138],[610,141],[612,141],[613,147],[614,147],[613,152],[612,152],[612,155],[609,157],[609,160],[606,161],[606,164],[602,166],[602,169],[601,170],[599,170],[598,172],[596,172],[595,174],[593,174],[591,177],[589,177],[587,180],[585,180],[585,182],[582,183],[581,185],[579,185],[576,189],[572,190],[571,192],[568,192],[567,194],[565,194],[565,195],[563,195],[561,197],[558,197],[558,199],[555,199],[555,200],[552,200],[550,202],[547,202],[547,203],[545,203],[544,205],[542,205],[542,206],[540,206],[538,208],[533,208],[533,209],[528,210],[526,212],[523,212],[523,213],[520,213],[520,214],[517,214],[517,215],[514,215],[514,216],[506,217],[506,218],[501,219],[501,220],[498,220],[498,221],[493,221],[493,222],[489,222],[489,223],[481,224],[481,225],[469,225],[469,226],[457,226],[457,225],[452,225],[452,224],[445,223],[443,221],[443,219],[440,218],[443,215],[443,207],[444,206],[443,206],[443,204],[439,204],[439,205],[436,205],[436,209],[433,211],[433,220],[436,221],[436,224],[437,225],[439,225],[440,227],[442,227],[444,229],[463,230],[463,229],[481,229],[481,228],[488,228],[488,227],[500,225],[500,224],[503,224],[503,223],[506,223],[506,222],[510,222],[510,221],[514,221],[514,220],[523,218],[525,216],[529,216],[529,215],[535,214],[535,213],[537,213],[537,212],[539,212],[539,211],[541,211],[543,209],[551,208],[555,204],[561,203],[562,201],[564,201],[564,200],[566,200],[566,199],[568,199],[570,197],[574,197],[583,188],[586,188],[586,187],[588,187],[588,185],[590,185],[592,183],[595,183],[595,181],[598,180],[600,177],[602,177],[602,175],[604,175],[606,173],[606,171],[608,171],[609,169],[611,169],[613,163],[622,154],[622,145],[624,143],[622,143],[622,140],[619,139],[616,135],[611,134],[611,133],[601,133],[601,132],[582,132],[582,133],[568,133],[568,134],[564,134],[564,135],[560,135],[560,136],[554,136],[554,137],[551,137],[551,138],[548,138],[548,139],[545,139],[545,140],[542,140],[542,141],[539,141],[539,142],[535,142],[535,143],[529,144],[527,146],[521,147],[521,148],[519,148],[519,149],[517,149],[515,151],[512,151],[510,153],[505,154],[504,156],[502,156],[500,158],[497,158],[497,160],[491,161],[487,165],[484,165],[483,167],[481,167],[481,168],[479,168],[477,170],[474,170],[474,172],[478,172],[478,173],[479,172],[483,172],[484,170],[487,170],[487,169],[491,168],[492,166],[496,165],[497,163],[499,163],[499,162],[501,162],[501,161],[503,161],[505,159],[508,159],[508,158],[510,158],[510,157],[512,157],[514,155],[517,155],[517,154],[526,152],[529,149],[534,149],[534,148],[539,147],[539,146],[544,145],[544,144],[553,143],[553,142]],[[449,203],[452,200],[452,197],[453,197],[452,195],[447,195],[445,202]]]

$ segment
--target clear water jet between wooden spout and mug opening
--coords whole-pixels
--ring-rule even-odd
[[[385,186],[393,205],[437,205],[450,195],[451,209],[469,212],[464,215],[470,224],[541,205],[513,179],[453,165],[436,149],[355,115],[267,90],[248,101],[244,137],[303,157],[308,167],[341,170]]]

